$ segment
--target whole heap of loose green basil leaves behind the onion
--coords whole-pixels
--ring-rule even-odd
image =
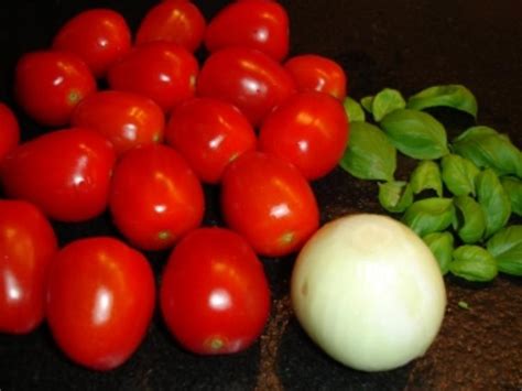
[[[522,153],[483,126],[448,142],[444,124],[422,111],[437,106],[478,113],[461,85],[429,87],[409,99],[391,88],[360,104],[347,98],[351,135],[339,165],[378,182],[381,206],[423,238],[443,274],[482,282],[499,271],[521,275],[522,226],[508,224],[522,216]],[[398,153],[418,160],[406,181],[395,177]]]

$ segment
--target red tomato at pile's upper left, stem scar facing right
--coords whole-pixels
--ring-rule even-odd
[[[30,117],[45,126],[67,124],[75,106],[96,88],[89,67],[73,53],[32,52],[17,64],[17,99]]]

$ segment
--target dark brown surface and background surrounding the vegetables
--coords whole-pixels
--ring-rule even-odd
[[[57,29],[87,8],[120,11],[135,31],[154,1],[3,1],[0,6],[0,99],[20,116],[23,139],[45,131],[12,100],[18,57],[51,43]],[[196,1],[209,19],[227,1]],[[291,54],[317,53],[339,62],[349,94],[360,99],[384,87],[404,96],[436,84],[467,86],[479,102],[478,123],[522,145],[522,2],[520,0],[282,1],[291,21]],[[436,112],[450,135],[469,126],[465,115]],[[406,163],[407,164],[407,163]],[[407,165],[404,170],[407,170]],[[337,169],[314,183],[322,221],[355,211],[382,213],[374,184]],[[219,224],[218,188],[206,187],[206,224]],[[1,218],[1,217],[0,217]],[[519,220],[520,221],[520,220]],[[104,215],[78,225],[54,224],[62,245],[79,237],[118,235]],[[156,274],[166,252],[148,253]],[[399,390],[522,388],[522,284],[499,276],[470,285],[447,278],[448,311],[427,355],[394,371],[362,373],[322,354],[289,311],[294,257],[263,259],[274,305],[263,337],[230,357],[183,351],[155,315],[132,358],[110,372],[68,361],[45,325],[28,336],[0,335],[0,390]],[[466,301],[469,309],[458,307]]]

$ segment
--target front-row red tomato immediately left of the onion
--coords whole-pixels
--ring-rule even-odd
[[[262,263],[238,233],[199,228],[174,248],[160,289],[163,318],[199,355],[235,354],[260,336],[270,311]]]

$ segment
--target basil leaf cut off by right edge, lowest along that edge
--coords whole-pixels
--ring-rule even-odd
[[[512,275],[522,275],[522,226],[510,226],[494,233],[487,242],[499,270]]]

